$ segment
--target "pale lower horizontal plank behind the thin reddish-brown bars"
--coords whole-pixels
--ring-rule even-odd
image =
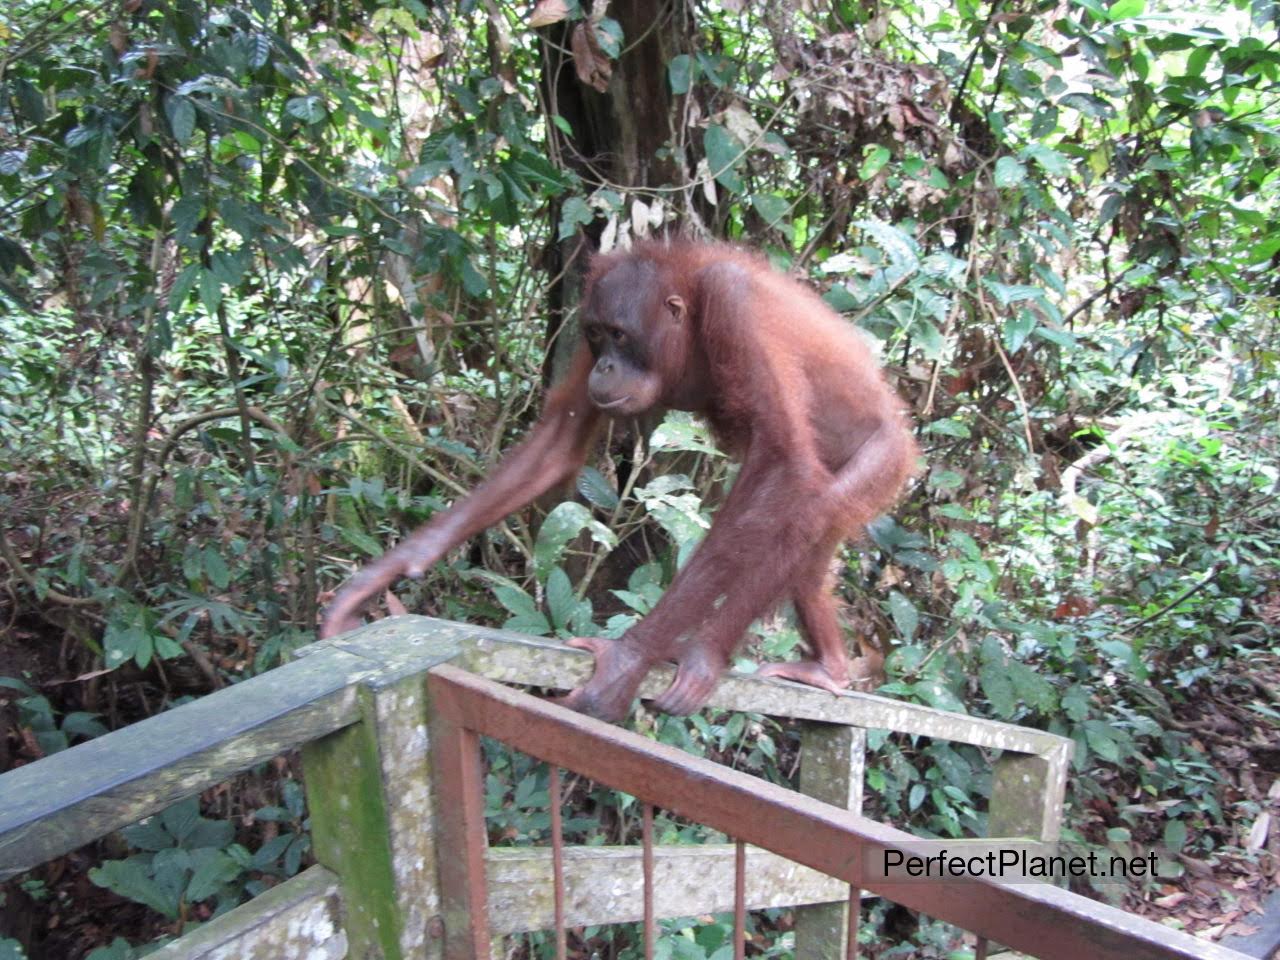
[[[654,847],[654,913],[696,916],[733,909],[733,844]],[[639,846],[564,847],[564,916],[570,927],[632,923],[644,916]],[[489,929],[521,933],[550,929],[549,847],[490,847],[485,855]],[[746,902],[751,910],[844,901],[849,884],[746,849]]]

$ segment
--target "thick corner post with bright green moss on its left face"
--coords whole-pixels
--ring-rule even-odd
[[[316,859],[342,882],[349,956],[439,960],[424,682],[457,650],[408,620],[333,645],[366,658],[370,669],[357,689],[360,722],[302,749]]]

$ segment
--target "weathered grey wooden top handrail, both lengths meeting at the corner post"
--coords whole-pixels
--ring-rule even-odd
[[[379,621],[298,653],[242,684],[0,774],[0,881],[357,722],[361,685],[390,684],[456,659],[492,680],[568,689],[591,667],[590,654],[557,641],[417,616]],[[668,668],[655,669],[640,695],[655,696],[669,677]],[[1044,787],[1057,796],[1071,749],[1065,737],[998,721],[739,675],[721,682],[710,705],[1030,754],[1044,760]],[[1051,838],[1053,831],[1034,832]]]

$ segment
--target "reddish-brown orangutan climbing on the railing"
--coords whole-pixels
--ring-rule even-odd
[[[861,335],[804,284],[723,244],[654,242],[599,256],[585,303],[588,343],[529,439],[468,498],[360,571],[321,635],[355,626],[398,576],[421,573],[576,474],[600,404],[627,416],[657,406],[704,416],[742,467],[653,612],[621,640],[571,641],[595,654],[596,669],[564,701],[616,719],[649,668],[672,659],[676,680],[655,705],[694,710],[751,621],[786,599],[812,658],[760,673],[845,687],[831,559],[892,503],[916,460],[901,404]]]

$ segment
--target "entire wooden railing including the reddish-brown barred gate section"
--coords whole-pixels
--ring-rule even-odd
[[[653,847],[652,872],[663,882],[649,884],[648,897],[640,847],[567,847],[561,858],[540,847],[485,849],[475,823],[479,767],[467,753],[479,733],[755,845],[745,849],[739,906],[797,905],[797,960],[844,955],[847,883],[873,886],[851,872],[855,851],[910,840],[858,815],[868,728],[998,749],[991,835],[1059,835],[1071,745],[1038,731],[877,696],[726,678],[714,707],[809,722],[797,795],[489,682],[581,682],[590,658],[554,643],[397,617],[301,653],[0,776],[0,879],[301,746],[317,865],[151,956],[453,960],[486,956],[485,943],[504,933],[553,928],[557,914],[577,927],[639,920],[646,899],[658,916],[733,909],[735,844]],[[641,695],[668,681],[669,671],[655,671]],[[712,781],[730,792],[690,794],[705,809],[678,801],[680,791]],[[739,797],[732,803],[756,797],[760,809],[750,809],[785,827],[723,823],[726,809],[746,809],[724,808],[730,795]],[[553,859],[563,864],[558,877]],[[557,890],[568,896],[558,899]],[[1047,886],[911,883],[878,892],[1034,955],[1242,956]],[[1074,931],[1064,942],[1088,943],[1088,954],[1053,947],[1055,928]]]

